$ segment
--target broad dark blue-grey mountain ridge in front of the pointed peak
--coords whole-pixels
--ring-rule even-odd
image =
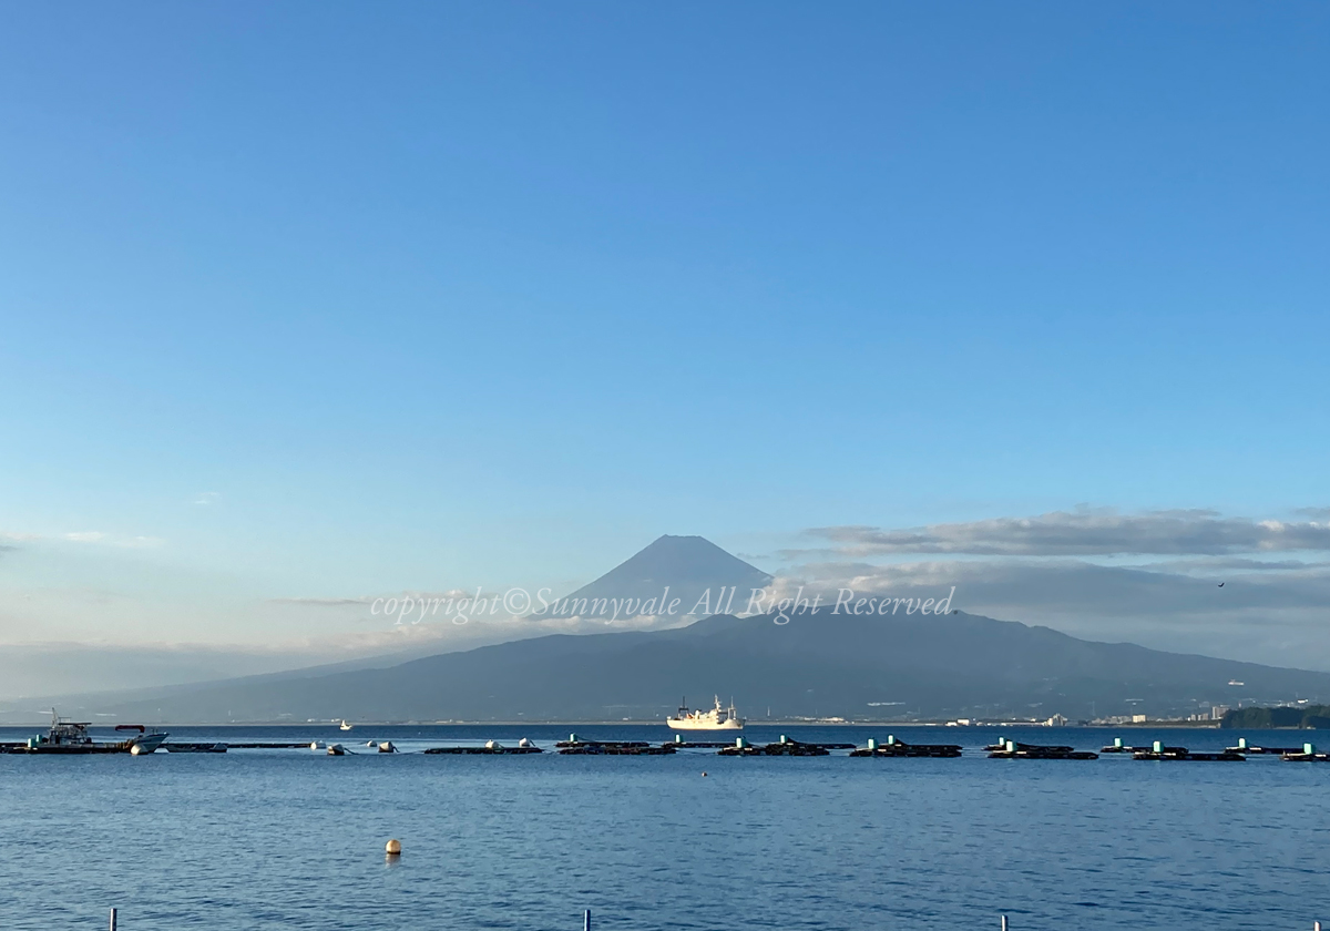
[[[1230,686],[1229,681],[1245,682]],[[1330,698],[1330,673],[1274,669],[970,614],[787,625],[717,614],[686,628],[537,637],[302,680],[173,696],[173,721],[661,718],[677,697],[733,696],[758,717],[1085,717],[1164,713],[1238,697]],[[1141,700],[1141,701],[1128,701]],[[156,716],[161,700],[102,712]]]

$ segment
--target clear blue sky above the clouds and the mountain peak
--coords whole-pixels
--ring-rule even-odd
[[[11,5],[0,531],[49,560],[0,581],[571,588],[665,532],[1325,505],[1327,27]]]

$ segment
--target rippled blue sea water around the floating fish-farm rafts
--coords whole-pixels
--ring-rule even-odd
[[[1330,765],[990,761],[988,729],[898,729],[960,759],[395,755],[567,726],[176,729],[334,739],[0,755],[0,928],[1311,928],[1330,919]],[[579,726],[665,739],[665,728]],[[863,743],[890,728],[749,728]],[[5,729],[21,739],[33,729]],[[1220,749],[1238,732],[1115,734]],[[1314,735],[1256,732],[1253,742]],[[1326,737],[1330,743],[1330,735]],[[708,775],[704,778],[702,771]],[[404,855],[390,863],[388,838]]]

